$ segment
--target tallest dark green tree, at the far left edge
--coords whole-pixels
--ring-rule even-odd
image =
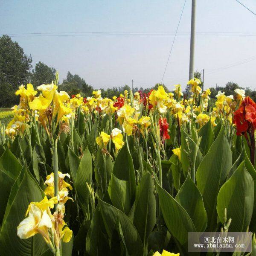
[[[0,37],[0,84],[8,83],[16,89],[26,83],[31,63],[31,56],[24,54],[17,42],[13,42],[8,35]]]

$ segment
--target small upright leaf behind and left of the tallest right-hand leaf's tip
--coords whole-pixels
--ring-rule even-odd
[[[211,120],[199,130],[198,137],[201,137],[200,150],[203,155],[206,155],[210,146],[214,141],[214,133],[212,131]]]

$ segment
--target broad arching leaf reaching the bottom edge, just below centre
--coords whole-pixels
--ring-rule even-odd
[[[119,228],[116,230],[119,233],[125,247],[128,250],[128,255],[141,256],[143,255],[143,245],[140,235],[130,219],[119,209],[99,199],[99,207],[108,238],[111,239],[113,231],[116,229],[116,224]]]

